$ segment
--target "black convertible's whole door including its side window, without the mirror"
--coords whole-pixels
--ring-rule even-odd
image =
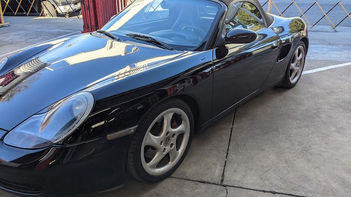
[[[225,44],[214,50],[213,116],[260,89],[276,61],[280,42],[249,2],[229,6],[224,25],[225,34],[233,28],[246,28],[255,31],[257,39],[248,44]]]

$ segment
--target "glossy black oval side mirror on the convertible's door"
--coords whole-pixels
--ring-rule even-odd
[[[225,41],[233,44],[247,44],[256,40],[257,34],[249,29],[232,29],[225,36]]]

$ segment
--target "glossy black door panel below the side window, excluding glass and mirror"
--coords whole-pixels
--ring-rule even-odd
[[[271,48],[276,42],[279,36],[263,29],[252,43],[226,44],[215,49],[214,116],[261,88],[279,53]]]

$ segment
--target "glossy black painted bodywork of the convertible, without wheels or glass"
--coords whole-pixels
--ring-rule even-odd
[[[251,43],[223,42],[225,12],[205,51],[168,51],[82,34],[9,57],[0,77],[23,65],[38,70],[19,76],[0,95],[0,187],[6,189],[4,180],[15,181],[52,194],[118,186],[124,182],[130,136],[107,140],[107,134],[138,125],[153,106],[174,97],[188,103],[201,130],[279,83],[297,43],[308,47],[306,24],[277,16]],[[278,59],[288,44],[289,53]],[[95,105],[71,136],[38,150],[4,144],[7,132],[29,116],[80,91],[91,92]]]

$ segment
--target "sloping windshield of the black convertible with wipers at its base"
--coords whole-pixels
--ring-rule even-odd
[[[102,30],[125,42],[152,45],[156,40],[169,49],[200,51],[221,11],[219,3],[209,0],[136,0]]]

